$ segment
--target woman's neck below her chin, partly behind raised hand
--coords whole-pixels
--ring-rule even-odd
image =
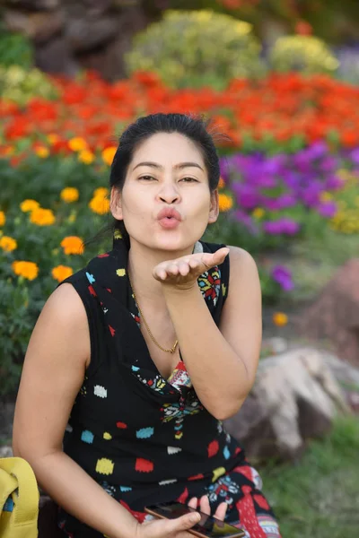
[[[188,256],[193,252],[193,245],[180,251],[153,250],[131,239],[128,251],[128,272],[136,295],[146,301],[164,303],[162,284],[153,278],[153,269],[162,262]],[[141,304],[141,303],[140,303]]]

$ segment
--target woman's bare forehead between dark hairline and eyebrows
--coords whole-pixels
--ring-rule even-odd
[[[133,164],[140,161],[156,161],[176,164],[195,161],[204,166],[202,152],[187,136],[179,133],[156,133],[141,143],[133,156]]]

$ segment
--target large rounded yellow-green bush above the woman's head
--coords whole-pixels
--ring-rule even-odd
[[[125,60],[130,74],[153,71],[171,87],[223,88],[234,77],[263,74],[259,52],[248,22],[206,10],[169,10],[136,35]]]

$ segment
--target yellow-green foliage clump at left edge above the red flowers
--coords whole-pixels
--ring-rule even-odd
[[[0,65],[0,95],[4,100],[23,106],[34,97],[55,99],[57,91],[39,69],[27,71],[20,65]]]

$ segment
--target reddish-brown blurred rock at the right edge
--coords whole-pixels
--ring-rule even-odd
[[[341,359],[359,366],[359,258],[338,270],[298,329],[306,338],[328,340]]]

